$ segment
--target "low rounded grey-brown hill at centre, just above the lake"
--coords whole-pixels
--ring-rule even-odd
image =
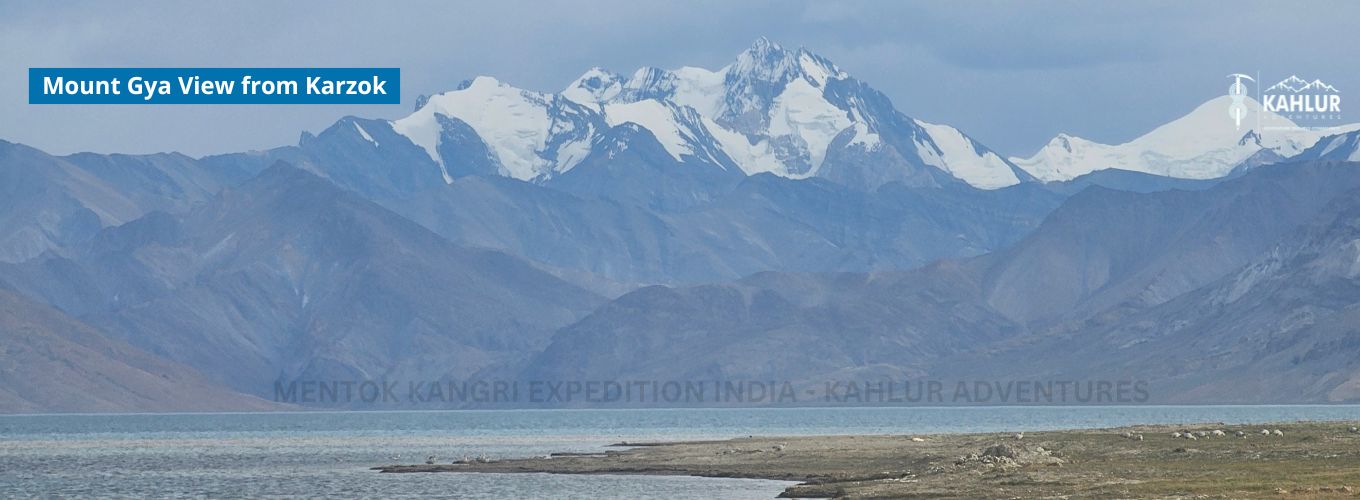
[[[1016,336],[957,264],[874,274],[762,273],[649,287],[562,329],[528,380],[793,380],[917,376],[940,356]]]

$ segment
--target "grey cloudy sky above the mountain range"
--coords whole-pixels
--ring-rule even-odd
[[[717,69],[768,37],[907,115],[1030,156],[1058,133],[1132,140],[1225,94],[1229,73],[1360,95],[1357,19],[1356,1],[0,0],[0,139],[52,154],[264,149],[344,115],[400,118],[479,75],[555,92],[590,67]],[[29,105],[34,67],[397,67],[401,105]],[[1342,117],[1360,121],[1346,101]]]

